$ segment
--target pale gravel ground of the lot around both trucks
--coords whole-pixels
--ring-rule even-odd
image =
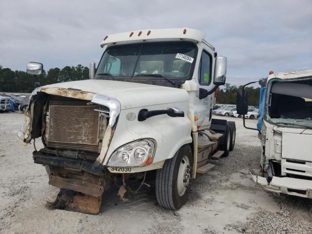
[[[103,196],[100,214],[86,215],[47,205],[58,189],[33,163],[33,146],[23,147],[16,135],[23,115],[0,113],[0,233],[311,234],[312,201],[256,185],[250,172],[260,168],[257,133],[243,128],[241,119],[225,119],[236,122],[234,151],[192,181],[188,202],[179,211],[159,207],[146,189],[123,203],[112,187]],[[250,126],[255,123],[247,120]],[[41,142],[36,146],[42,147]]]

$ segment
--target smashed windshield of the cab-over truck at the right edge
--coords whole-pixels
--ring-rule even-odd
[[[275,82],[271,95],[271,122],[312,129],[312,80]]]

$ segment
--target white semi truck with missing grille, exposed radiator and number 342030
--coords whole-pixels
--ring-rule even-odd
[[[33,91],[19,136],[41,138],[33,159],[60,188],[55,207],[97,214],[115,182],[123,199],[153,185],[159,205],[177,210],[196,173],[228,156],[234,122],[212,119],[226,58],[204,38],[190,28],[109,35],[89,80]],[[27,66],[30,74],[41,70],[40,63]],[[140,182],[133,187],[131,180]]]

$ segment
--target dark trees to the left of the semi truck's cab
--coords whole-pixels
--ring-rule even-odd
[[[62,69],[51,68],[43,70],[39,75],[40,85],[59,82],[83,80],[89,78],[89,68],[78,64],[76,67],[65,66]],[[0,66],[0,92],[31,93],[35,89],[32,75],[24,71],[12,71],[10,68]]]

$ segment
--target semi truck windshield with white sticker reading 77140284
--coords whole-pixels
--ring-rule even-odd
[[[196,52],[195,43],[186,41],[110,46],[98,64],[95,78],[182,84],[192,75]]]

